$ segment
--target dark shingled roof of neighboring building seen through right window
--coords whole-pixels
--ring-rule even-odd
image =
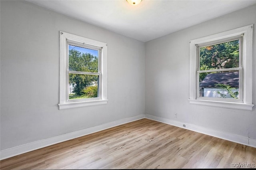
[[[215,87],[215,84],[225,84],[231,87],[239,87],[238,71],[224,73],[210,73],[204,77],[200,87]]]

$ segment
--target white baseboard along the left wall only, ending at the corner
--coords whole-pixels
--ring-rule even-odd
[[[28,144],[24,144],[24,145],[12,147],[12,148],[0,150],[0,160],[10,158],[12,156],[16,156],[16,155],[19,155],[19,154],[23,154],[23,153],[26,153],[26,152],[30,152],[32,150],[44,148],[46,146],[50,146],[50,145],[53,145],[53,144],[56,144],[56,143],[64,142],[64,141],[67,141],[67,140],[70,140],[70,139],[78,138],[80,136],[84,136],[84,135],[91,134],[91,133],[94,133],[94,132],[98,132],[98,131],[101,131],[101,130],[105,130],[105,129],[108,129],[108,128],[116,127],[118,125],[123,125],[125,123],[133,122],[133,121],[143,119],[143,118],[145,118],[145,115],[141,114],[141,115],[138,115],[138,116],[125,118],[125,119],[121,119],[121,120],[118,120],[118,121],[105,123],[103,125],[98,125],[98,126],[95,126],[95,127],[85,128],[85,129],[82,129],[82,130],[77,130],[77,131],[74,131],[74,132],[61,134],[59,136],[54,136],[54,137],[39,140],[39,141],[36,141],[36,142],[32,142],[32,143],[28,143]]]

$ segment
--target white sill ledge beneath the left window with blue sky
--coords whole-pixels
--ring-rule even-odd
[[[78,107],[88,107],[88,106],[96,106],[96,105],[106,105],[108,100],[94,100],[94,101],[80,101],[80,102],[70,102],[70,103],[61,103],[59,105],[59,109],[71,109]]]

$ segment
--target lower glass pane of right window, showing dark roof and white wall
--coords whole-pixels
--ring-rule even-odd
[[[239,99],[239,71],[199,74],[199,96]]]

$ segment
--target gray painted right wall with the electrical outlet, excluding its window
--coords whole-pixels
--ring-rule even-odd
[[[256,6],[145,43],[146,114],[256,139],[256,110],[190,104],[190,40],[254,24],[252,103],[256,102]],[[177,118],[174,118],[177,113]]]

